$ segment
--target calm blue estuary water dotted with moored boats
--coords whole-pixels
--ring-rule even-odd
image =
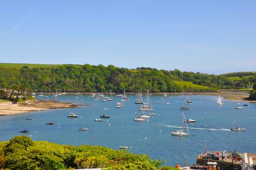
[[[49,111],[31,112],[19,115],[0,117],[0,141],[10,140],[20,134],[19,130],[29,129],[33,140],[46,140],[65,145],[101,145],[113,149],[119,146],[129,146],[130,152],[136,154],[146,153],[153,159],[166,160],[166,165],[183,164],[183,157],[187,162],[195,164],[197,155],[204,152],[205,141],[208,150],[236,149],[238,152],[256,153],[256,104],[239,101],[244,109],[235,109],[238,101],[223,99],[224,105],[215,105],[217,96],[151,96],[156,116],[151,116],[147,122],[134,122],[133,118],[140,114],[139,106],[134,104],[135,96],[128,96],[129,101],[121,109],[115,108],[115,101],[101,102],[84,95],[83,100],[73,95],[59,96],[59,101],[69,101],[79,104],[91,104],[71,109],[52,109]],[[191,129],[189,137],[175,137],[171,135],[171,126],[181,126],[181,113],[179,109],[184,99],[189,97],[193,105],[191,109],[183,111],[186,119],[193,118],[195,124],[189,127],[206,128],[206,130]],[[157,104],[156,101],[161,101]],[[171,102],[173,101],[173,102]],[[166,103],[170,102],[170,105]],[[109,108],[104,111],[103,108]],[[78,118],[67,118],[69,112],[79,115]],[[137,113],[136,113],[137,112]],[[94,118],[107,114],[111,118],[103,122],[94,122]],[[26,121],[34,118],[34,121]],[[54,125],[46,125],[46,122]],[[59,125],[58,125],[59,123]],[[78,131],[78,128],[89,128],[89,131]],[[244,132],[225,130],[235,127],[246,128]],[[146,138],[145,138],[146,137]]]

